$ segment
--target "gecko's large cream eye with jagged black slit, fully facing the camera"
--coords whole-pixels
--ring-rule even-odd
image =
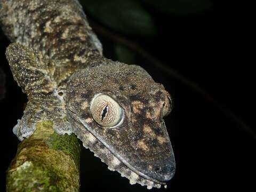
[[[100,94],[92,100],[91,113],[94,121],[103,127],[117,125],[123,116],[123,110],[118,103],[105,94]]]

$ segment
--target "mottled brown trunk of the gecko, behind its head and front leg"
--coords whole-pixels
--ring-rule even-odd
[[[71,74],[102,54],[77,0],[1,0],[0,22],[12,42],[56,62],[55,79],[64,91]]]

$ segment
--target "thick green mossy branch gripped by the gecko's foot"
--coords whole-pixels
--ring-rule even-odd
[[[6,191],[79,191],[80,145],[74,134],[59,135],[51,121],[36,124],[24,139],[6,177]]]

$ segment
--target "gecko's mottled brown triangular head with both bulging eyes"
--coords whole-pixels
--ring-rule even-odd
[[[66,99],[74,133],[109,169],[149,188],[173,177],[163,120],[172,99],[144,69],[108,61],[79,70],[69,80]]]

